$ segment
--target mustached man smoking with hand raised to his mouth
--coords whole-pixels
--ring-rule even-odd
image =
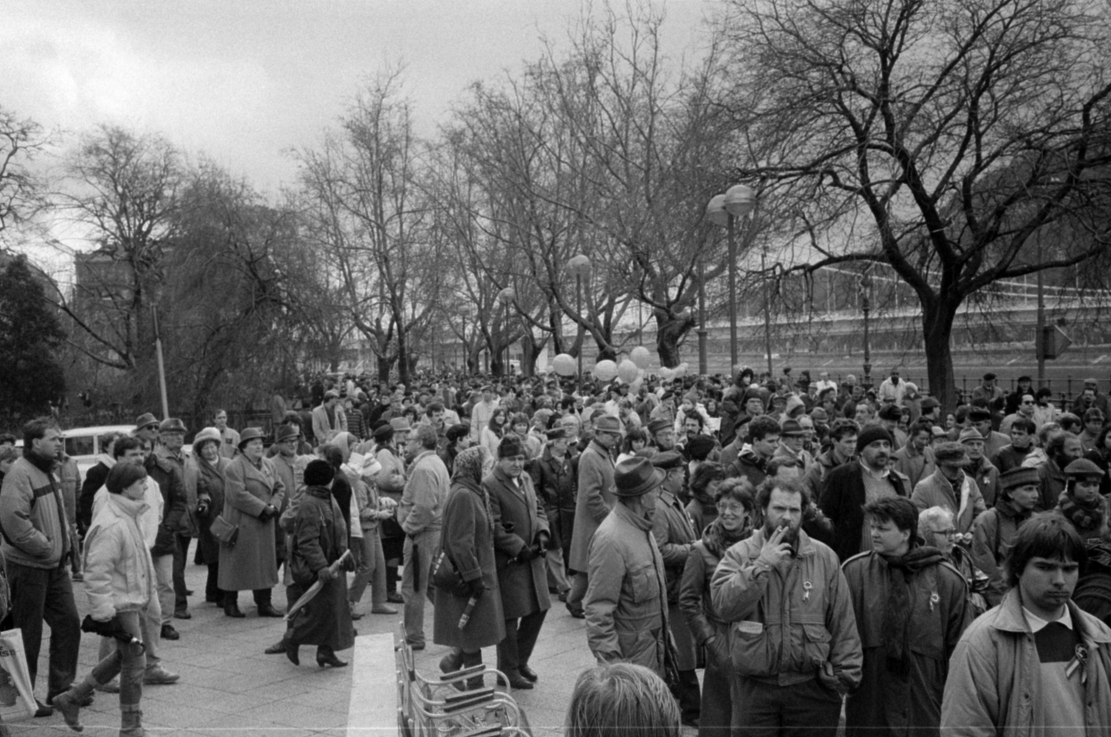
[[[725,552],[710,581],[730,623],[733,734],[837,734],[841,697],[860,684],[863,654],[849,586],[833,551],[802,529],[801,481],[769,478],[763,527]]]

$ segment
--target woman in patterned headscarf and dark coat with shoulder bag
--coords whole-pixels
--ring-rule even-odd
[[[493,515],[482,486],[484,470],[492,462],[483,446],[460,451],[456,456],[451,490],[443,506],[440,547],[447,560],[442,565],[450,561],[469,589],[464,595],[436,589],[432,641],[454,648],[440,661],[440,669],[444,673],[479,665],[482,663],[481,648],[497,645],[506,637],[493,555]],[[474,610],[460,629],[459,619],[472,597],[477,597]],[[482,678],[472,678],[468,685],[481,687]]]

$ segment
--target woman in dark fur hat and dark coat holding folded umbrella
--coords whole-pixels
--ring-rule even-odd
[[[320,581],[323,587],[308,604],[293,615],[286,657],[300,665],[298,647],[317,646],[317,665],[321,668],[347,665],[336,657],[336,650],[354,645],[351,627],[351,608],[347,601],[347,576],[342,570],[329,568],[347,551],[347,525],[340,506],[331,492],[336,470],[328,461],[313,460],[304,469],[304,496],[293,519],[293,550],[290,554],[290,572],[293,584],[289,587],[290,600],[296,601]],[[353,559],[347,569],[353,570]]]

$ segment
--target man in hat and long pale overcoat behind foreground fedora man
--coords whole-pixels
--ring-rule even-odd
[[[621,440],[621,422],[609,415],[598,418],[594,436],[579,455],[579,497],[574,505],[570,567],[575,571],[567,608],[581,618],[582,597],[589,582],[590,540],[613,508],[613,448]]]

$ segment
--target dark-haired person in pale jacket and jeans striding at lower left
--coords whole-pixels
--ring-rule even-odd
[[[142,737],[143,668],[141,611],[157,597],[154,567],[139,517],[147,509],[147,470],[116,464],[104,481],[109,497],[93,517],[84,539],[84,588],[91,612],[81,629],[116,638],[116,649],[101,659],[84,680],[54,697],[53,705],[72,729],[83,727],[80,705],[98,686],[120,676],[121,737]],[[129,637],[130,636],[130,637]],[[129,640],[129,641],[124,641]]]

